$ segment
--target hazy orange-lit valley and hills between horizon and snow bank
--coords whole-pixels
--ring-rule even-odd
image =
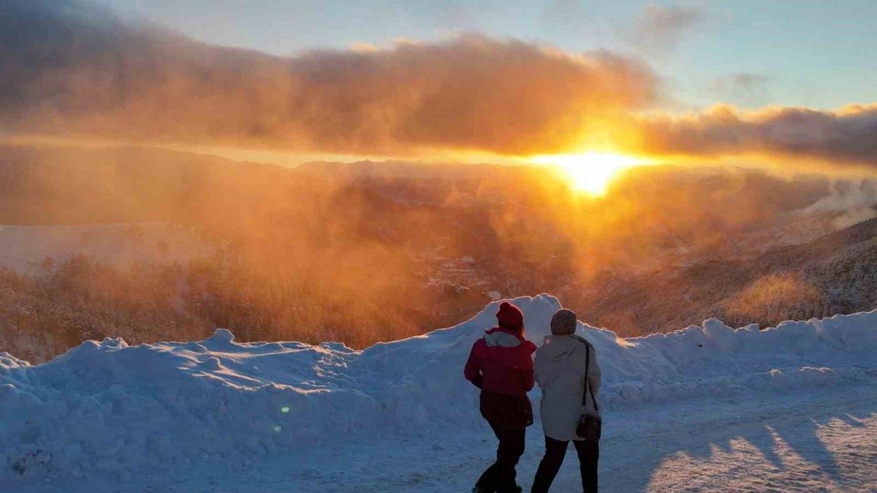
[[[546,168],[6,146],[0,191],[0,350],[32,361],[217,326],[365,347],[540,292],[624,336],[877,305],[873,182],[647,167],[588,198]]]

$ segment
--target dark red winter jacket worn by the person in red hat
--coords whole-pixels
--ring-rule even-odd
[[[527,391],[533,388],[535,351],[535,344],[499,327],[472,345],[463,375],[481,389],[481,414],[491,425],[532,424]]]

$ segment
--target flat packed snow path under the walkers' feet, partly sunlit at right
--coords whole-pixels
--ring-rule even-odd
[[[600,468],[605,492],[877,491],[877,385],[816,396],[695,401],[607,418]],[[303,462],[289,471],[303,478],[289,491],[468,491],[494,454],[493,445],[488,432],[403,444],[381,440],[351,447],[353,454],[342,450]],[[543,450],[534,426],[518,468],[524,490]],[[343,467],[321,474],[321,461]],[[282,485],[269,480],[246,489],[244,481],[238,487],[267,493]],[[553,490],[581,491],[572,447]]]

